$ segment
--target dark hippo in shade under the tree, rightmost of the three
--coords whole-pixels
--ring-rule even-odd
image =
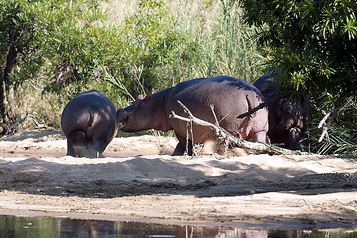
[[[267,73],[260,77],[254,86],[263,94],[265,100],[269,101],[277,94],[274,84],[274,74]],[[270,106],[268,137],[272,143],[284,143],[284,147],[290,150],[300,150],[300,140],[308,130],[311,116],[311,102],[308,95],[304,96],[304,103],[298,104],[296,100],[288,98],[280,99]]]

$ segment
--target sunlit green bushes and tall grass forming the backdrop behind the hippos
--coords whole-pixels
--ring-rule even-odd
[[[268,72],[256,42],[249,40],[256,29],[242,23],[232,1],[0,0],[0,5],[0,83],[8,105],[0,107],[3,134],[24,112],[60,129],[64,105],[91,89],[123,108],[184,80],[229,75],[253,83]],[[17,57],[9,71],[11,49]],[[325,105],[311,98],[314,114],[304,150],[355,156],[353,100],[317,142]],[[21,129],[36,126],[25,121]]]

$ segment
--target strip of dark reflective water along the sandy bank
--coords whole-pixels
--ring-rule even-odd
[[[0,237],[186,237],[186,238],[357,238],[357,232],[248,230],[228,227],[162,225],[140,222],[81,220],[56,217],[0,216]]]

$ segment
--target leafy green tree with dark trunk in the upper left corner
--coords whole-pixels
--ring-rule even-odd
[[[70,83],[77,84],[72,92],[81,91],[93,58],[103,57],[98,6],[95,0],[0,1],[0,120],[11,120],[9,98],[25,82],[59,94]]]

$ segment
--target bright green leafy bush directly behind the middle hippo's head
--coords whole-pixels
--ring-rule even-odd
[[[176,24],[163,1],[143,0],[138,10],[118,25],[117,50],[103,64],[112,69],[116,84],[125,82],[121,96],[131,100],[172,86],[165,69],[177,67],[177,61],[186,62],[198,48],[190,33]]]

